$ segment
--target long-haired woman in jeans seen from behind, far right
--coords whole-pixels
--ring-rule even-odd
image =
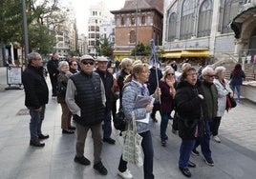
[[[241,103],[241,86],[243,80],[245,80],[245,72],[242,70],[241,64],[237,64],[234,70],[230,74],[230,85],[232,91],[235,93],[235,89],[237,90],[237,102]]]

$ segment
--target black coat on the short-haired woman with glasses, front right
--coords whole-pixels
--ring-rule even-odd
[[[203,116],[206,115],[204,99],[198,95],[203,93],[200,81],[191,85],[181,81],[177,86],[175,95],[175,106],[179,116],[179,135],[182,139],[195,139],[202,135],[204,130]],[[197,128],[199,133],[196,132]]]

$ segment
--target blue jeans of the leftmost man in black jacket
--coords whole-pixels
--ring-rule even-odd
[[[31,123],[30,123],[30,131],[31,131],[31,140],[38,141],[38,135],[42,134],[42,122],[45,117],[45,105],[42,106],[41,111],[36,111],[34,109],[30,109],[31,114]]]

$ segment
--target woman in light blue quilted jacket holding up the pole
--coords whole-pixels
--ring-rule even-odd
[[[145,108],[135,108],[136,99],[138,95],[149,96],[149,90],[146,87],[146,82],[149,78],[149,68],[147,64],[137,64],[133,67],[131,74],[127,76],[124,81],[125,88],[122,94],[122,108],[125,118],[132,120],[132,113],[135,114],[136,125],[139,135],[142,137],[141,147],[144,153],[144,179],[153,179],[153,155],[154,149],[152,144],[151,126],[149,113],[152,111],[153,106],[147,105]],[[159,98],[160,89],[156,89],[152,97]],[[139,119],[148,119],[148,123],[139,122]],[[128,124],[128,123],[127,123]],[[122,178],[133,178],[130,170],[127,169],[127,162],[120,157],[117,174]]]

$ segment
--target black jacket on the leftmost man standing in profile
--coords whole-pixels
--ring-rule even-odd
[[[29,65],[22,74],[22,83],[25,89],[26,107],[39,109],[48,103],[49,89],[43,75],[43,68]]]

